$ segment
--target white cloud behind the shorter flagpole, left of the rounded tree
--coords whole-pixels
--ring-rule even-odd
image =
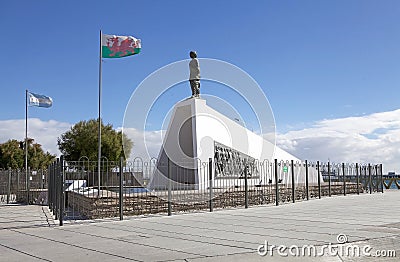
[[[70,123],[56,120],[42,121],[38,118],[28,119],[28,137],[42,145],[43,150],[60,155],[57,137],[71,128]],[[23,141],[25,139],[25,119],[0,120],[0,143],[9,139]]]

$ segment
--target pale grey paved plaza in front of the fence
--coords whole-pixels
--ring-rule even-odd
[[[385,191],[63,227],[47,207],[3,205],[0,261],[398,261],[399,199]],[[311,246],[325,255],[310,256]],[[344,252],[356,247],[360,256]],[[368,256],[377,251],[397,258]]]

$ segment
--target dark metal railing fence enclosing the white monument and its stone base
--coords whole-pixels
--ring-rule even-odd
[[[382,165],[294,161],[183,163],[57,159],[49,166],[48,204],[60,221],[280,205],[333,195],[383,192]],[[162,172],[161,172],[161,171]],[[158,176],[156,174],[158,173]],[[194,175],[195,174],[195,175]],[[317,175],[315,175],[317,174]],[[194,179],[193,179],[194,178]]]

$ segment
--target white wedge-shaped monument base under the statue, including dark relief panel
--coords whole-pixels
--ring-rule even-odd
[[[189,98],[173,109],[149,188],[206,189],[210,177],[214,186],[241,186],[246,174],[250,186],[274,184],[274,159],[302,162],[209,107],[206,100]],[[280,162],[280,166],[289,164]],[[301,170],[305,173],[305,167]],[[317,183],[316,170],[308,171],[309,183]],[[287,174],[280,173],[280,182],[291,183]],[[295,183],[305,183],[305,176],[297,175]]]

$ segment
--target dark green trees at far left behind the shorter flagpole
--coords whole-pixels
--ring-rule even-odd
[[[44,152],[40,144],[28,138],[28,167],[32,170],[44,169],[54,161],[55,155]],[[0,144],[0,168],[25,168],[24,142],[10,139]]]

